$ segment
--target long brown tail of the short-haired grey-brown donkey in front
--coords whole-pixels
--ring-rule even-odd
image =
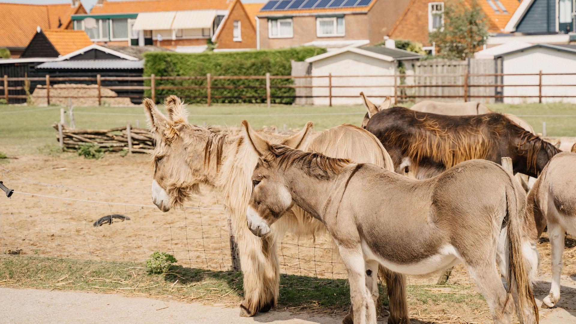
[[[508,219],[508,287],[507,292],[515,295],[516,312],[520,323],[526,323],[534,316],[534,323],[539,323],[538,306],[532,293],[532,284],[529,280],[528,268],[522,255],[522,231],[524,228],[524,213],[526,212],[524,201],[518,197],[517,191],[520,186],[514,186],[511,178],[512,190],[506,192],[506,218]],[[508,295],[510,296],[510,295]],[[508,300],[506,299],[506,302]]]

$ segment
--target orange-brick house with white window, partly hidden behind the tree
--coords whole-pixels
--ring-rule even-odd
[[[465,0],[466,5],[470,1]],[[518,0],[477,0],[486,15],[488,32],[492,35],[505,30],[512,14],[520,5]],[[410,0],[400,17],[390,29],[391,39],[408,39],[420,42],[425,50],[434,52],[429,33],[444,24],[444,2],[433,0]]]

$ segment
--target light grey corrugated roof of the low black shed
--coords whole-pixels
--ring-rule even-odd
[[[126,59],[78,59],[60,62],[44,62],[36,69],[87,69],[87,70],[134,70],[143,69],[144,61]]]

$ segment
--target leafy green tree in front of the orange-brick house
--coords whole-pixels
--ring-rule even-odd
[[[444,25],[429,35],[430,43],[438,48],[438,55],[465,59],[486,43],[486,16],[476,0],[472,0],[469,5],[463,0],[445,2],[443,14]]]

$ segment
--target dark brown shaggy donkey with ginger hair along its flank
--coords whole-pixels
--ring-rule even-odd
[[[446,116],[392,107],[371,109],[362,123],[376,135],[397,172],[409,167],[418,179],[430,178],[471,159],[499,163],[512,158],[514,173],[537,178],[558,148],[501,114]]]

